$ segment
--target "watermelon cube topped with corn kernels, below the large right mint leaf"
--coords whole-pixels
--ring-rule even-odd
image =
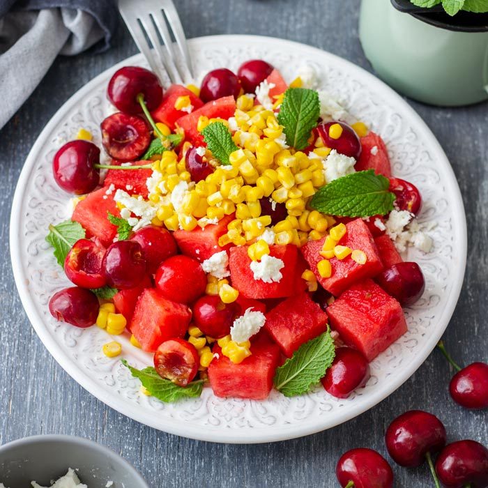
[[[319,241],[309,241],[301,247],[303,256],[317,276],[319,283],[334,296],[340,295],[355,282],[376,276],[383,269],[378,248],[365,222],[362,219],[356,219],[348,222],[346,228],[346,235],[341,239],[340,244],[351,247],[352,250],[358,249],[365,252],[367,256],[365,264],[356,263],[350,255],[342,260],[333,257],[330,259],[332,275],[329,278],[323,278],[317,270],[317,263],[323,259],[319,252],[325,238],[321,238]]]

